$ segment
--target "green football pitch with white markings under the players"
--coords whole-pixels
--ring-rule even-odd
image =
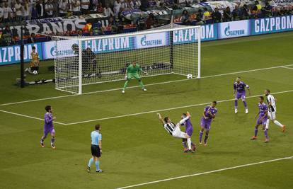
[[[293,188],[293,33],[202,42],[202,79],[163,75],[137,81],[85,86],[83,95],[54,84],[19,88],[19,65],[0,67],[0,188]],[[187,55],[188,56],[188,55]],[[41,62],[38,79],[52,79],[52,61]],[[234,114],[236,76],[251,87],[249,113],[239,101]],[[28,76],[33,81],[34,76]],[[277,98],[277,120],[269,143],[261,130],[251,141],[258,96],[266,88]],[[205,105],[217,101],[207,147],[198,144]],[[40,147],[45,105],[52,105],[56,148]],[[194,154],[163,129],[156,113],[173,122],[192,115]],[[86,172],[91,131],[100,123],[103,154],[96,173]]]

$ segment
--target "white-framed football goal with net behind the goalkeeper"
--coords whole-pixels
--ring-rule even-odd
[[[125,79],[137,62],[144,76],[200,78],[200,26],[169,24],[142,32],[91,37],[51,36],[56,89],[81,94],[83,86]]]

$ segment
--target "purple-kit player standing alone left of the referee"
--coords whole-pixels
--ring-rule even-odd
[[[56,117],[53,117],[53,108],[51,105],[46,105],[45,110],[47,113],[45,113],[45,124],[44,124],[44,135],[42,135],[40,145],[41,147],[45,147],[44,140],[47,137],[47,134],[51,134],[51,147],[52,149],[55,149],[54,141],[55,141],[55,130],[54,130],[54,125],[53,125],[53,120],[56,119]]]

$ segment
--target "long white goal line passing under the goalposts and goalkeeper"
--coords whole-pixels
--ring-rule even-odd
[[[230,72],[230,73],[226,73],[226,74],[217,74],[217,75],[212,75],[212,76],[202,76],[201,79],[206,79],[206,78],[216,77],[216,76],[227,76],[227,75],[232,75],[232,74],[241,74],[241,73],[247,73],[247,72],[251,72],[251,71],[276,69],[276,68],[289,67],[289,66],[293,66],[293,64],[286,64],[286,65],[277,66],[277,67],[268,67],[268,68],[260,68],[260,69],[250,69],[250,70],[245,70],[245,71],[236,71],[236,72]],[[178,79],[178,80],[174,80],[174,81],[164,81],[164,82],[155,83],[155,84],[146,84],[145,86],[171,84],[171,83],[175,83],[175,82],[179,82],[179,81],[190,81],[190,79]],[[140,86],[130,86],[127,88],[137,88],[137,87],[140,87]],[[81,95],[93,94],[93,93],[103,93],[103,92],[109,92],[109,91],[119,91],[119,90],[122,90],[122,88],[113,88],[113,89],[108,89],[108,90],[103,90],[103,91],[92,91],[92,92],[88,92],[88,93],[82,93]],[[71,97],[71,96],[79,96],[79,94],[53,96],[53,97],[48,97],[48,98],[38,98],[38,99],[33,99],[33,100],[28,100],[28,101],[18,101],[18,102],[14,102],[14,103],[4,103],[4,104],[0,104],[0,106],[13,105],[13,104],[19,104],[19,103],[30,103],[30,102],[35,102],[35,101],[45,101],[45,100],[51,100],[51,99],[56,99],[56,98],[67,98],[67,97]]]

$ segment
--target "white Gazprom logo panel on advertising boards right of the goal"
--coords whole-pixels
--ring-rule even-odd
[[[218,37],[219,39],[237,38],[251,35],[249,21],[234,21],[228,23],[219,23]]]

